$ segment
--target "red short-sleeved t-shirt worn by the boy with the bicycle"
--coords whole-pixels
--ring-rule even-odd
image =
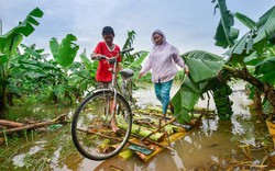
[[[99,42],[96,49],[94,50],[95,54],[101,54],[107,57],[114,57],[119,54],[120,47],[118,45],[114,45],[114,49],[110,50],[106,44],[106,42]],[[118,58],[118,62],[121,61],[121,56]],[[112,68],[112,65],[109,65],[109,62],[106,59],[99,60],[96,80],[99,82],[111,82],[112,81],[112,72],[109,71],[109,68]]]

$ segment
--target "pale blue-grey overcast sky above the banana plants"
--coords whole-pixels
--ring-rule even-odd
[[[275,0],[227,0],[227,4],[231,12],[257,21]],[[221,55],[226,50],[215,46],[213,39],[220,20],[219,11],[213,15],[215,5],[211,0],[0,0],[0,19],[6,34],[38,7],[44,16],[23,43],[46,50],[52,37],[61,42],[72,33],[78,38],[79,53],[86,48],[90,54],[102,39],[102,27],[110,25],[116,32],[114,43],[121,47],[128,31],[135,31],[135,52],[150,50],[151,34],[160,29],[180,54],[202,49]],[[235,27],[241,30],[240,36],[248,32],[238,21]]]

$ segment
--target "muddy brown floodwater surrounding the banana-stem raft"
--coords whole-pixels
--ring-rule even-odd
[[[177,89],[178,83],[174,83],[172,95]],[[243,90],[243,82],[234,84],[233,94],[230,96],[234,102],[231,121],[221,122],[218,117],[202,118],[200,127],[191,128],[185,137],[172,144],[175,151],[164,150],[146,163],[135,156],[127,160],[114,157],[106,161],[92,161],[81,157],[72,142],[68,124],[54,132],[46,132],[45,135],[38,134],[33,139],[29,138],[15,153],[7,158],[11,160],[7,162],[10,167],[2,167],[3,161],[0,160],[0,170],[182,171],[206,170],[209,166],[208,170],[220,170],[222,167],[228,169],[230,161],[260,164],[266,157],[263,144],[264,140],[270,140],[268,136],[266,138],[268,130],[265,123],[256,123],[252,117],[248,109],[251,101]],[[139,105],[160,105],[152,84],[147,84],[146,89],[139,90],[134,95]],[[197,106],[207,107],[207,100],[199,101]],[[215,110],[212,101],[209,107]],[[69,115],[72,113],[73,111]],[[248,151],[246,145],[255,149]],[[242,170],[238,167],[234,169]]]

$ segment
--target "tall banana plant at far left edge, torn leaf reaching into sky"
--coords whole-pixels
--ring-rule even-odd
[[[34,26],[40,23],[35,18],[42,18],[43,11],[38,8],[32,10],[23,22],[13,27],[8,33],[0,35],[0,117],[3,117],[6,107],[7,86],[9,84],[10,60],[16,54],[16,48],[23,37],[28,37],[34,32]]]

